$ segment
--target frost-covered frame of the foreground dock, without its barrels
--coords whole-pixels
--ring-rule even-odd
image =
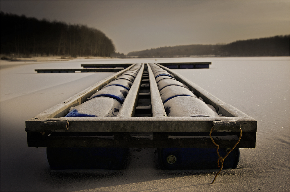
[[[238,148],[255,148],[257,121],[237,108],[214,97],[182,75],[157,64],[173,74],[176,80],[194,91],[197,97],[212,105],[226,117],[166,117],[157,84],[148,65],[153,117],[131,117],[134,114],[144,64],[139,71],[117,117],[64,117],[72,106],[79,105],[104,85],[132,68],[117,72],[26,121],[30,147],[220,147],[230,148],[243,130]],[[153,76],[153,77],[152,77]],[[51,133],[57,132],[57,136]],[[113,136],[108,137],[108,136]]]

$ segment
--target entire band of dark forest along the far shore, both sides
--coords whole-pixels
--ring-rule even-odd
[[[178,45],[116,53],[103,32],[1,12],[1,54],[31,56],[182,57],[182,56],[289,56],[289,35],[238,40],[229,44]]]

